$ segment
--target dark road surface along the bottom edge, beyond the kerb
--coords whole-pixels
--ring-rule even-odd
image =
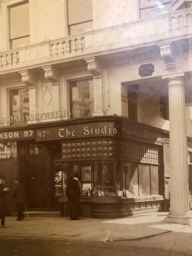
[[[152,238],[153,239],[153,238]],[[144,241],[70,242],[28,238],[0,238],[0,256],[189,256],[142,248]]]

